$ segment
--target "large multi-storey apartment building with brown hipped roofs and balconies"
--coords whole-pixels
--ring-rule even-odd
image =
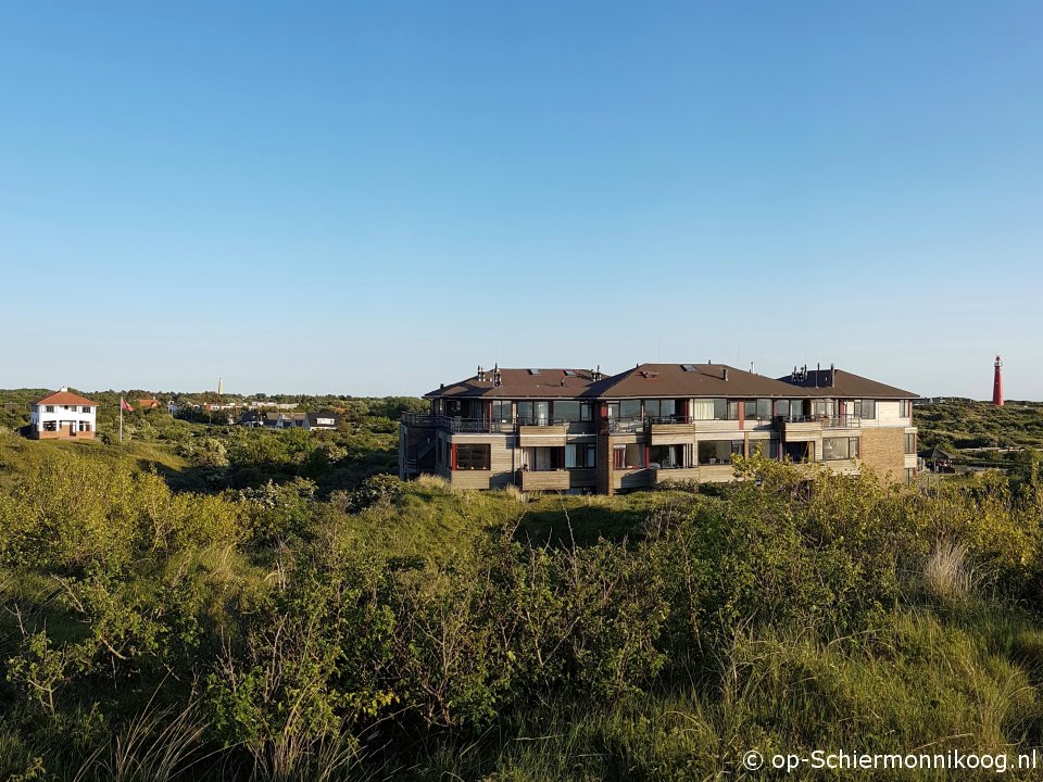
[[[916,470],[917,394],[830,367],[769,378],[722,364],[482,370],[404,415],[402,478],[613,494],[668,481],[730,481],[761,452],[892,481]]]

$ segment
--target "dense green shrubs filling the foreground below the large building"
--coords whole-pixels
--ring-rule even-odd
[[[871,698],[874,682],[896,693],[954,665],[946,655],[979,692],[1009,697],[982,733],[990,742],[1039,729],[1023,691],[1038,671],[1018,660],[1043,657],[1032,652],[1043,640],[1010,607],[1041,571],[1034,492],[1014,500],[983,478],[926,496],[872,476],[822,476],[808,494],[784,466],[737,469],[746,480],[720,497],[548,503],[540,524],[555,507],[566,527],[570,512],[600,513],[619,534],[533,543],[529,505],[431,481],[370,479],[334,503],[303,478],[176,494],[153,472],[55,455],[0,492],[2,770],[41,758],[102,778],[111,766],[91,764],[112,757],[106,736],[137,731],[154,746],[180,726],[193,737],[168,765],[219,758],[196,768],[204,778],[391,773],[406,762],[437,775],[439,753],[457,742],[485,747],[483,759],[447,760],[452,773],[507,773],[528,756],[503,736],[548,709],[580,708],[578,732],[563,735],[619,764],[599,760],[594,777],[702,777],[731,769],[743,741],[859,737],[838,720],[870,743],[885,743],[888,720],[903,715],[910,741],[937,739],[928,733],[941,726],[955,733],[976,708],[985,714],[951,692],[956,677],[935,683],[944,719]],[[620,529],[617,514],[644,506]],[[393,531],[387,547],[365,534],[407,529],[423,508],[472,514],[473,533],[443,538],[438,556],[398,556]],[[939,541],[957,542],[976,573],[958,602],[922,576]],[[984,600],[991,614],[976,614]],[[980,616],[985,646],[969,640]],[[632,708],[644,711],[625,717]]]

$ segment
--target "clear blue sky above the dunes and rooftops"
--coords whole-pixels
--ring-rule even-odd
[[[0,1],[2,387],[1043,398],[1039,2]]]

